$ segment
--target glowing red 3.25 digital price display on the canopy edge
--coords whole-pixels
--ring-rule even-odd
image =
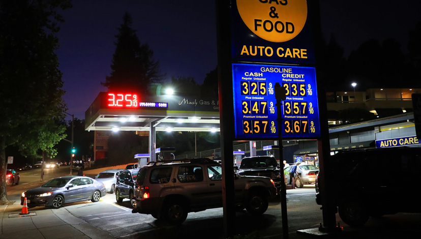
[[[139,102],[139,97],[137,94],[107,93],[106,96],[106,105],[111,108],[168,108],[168,103]]]

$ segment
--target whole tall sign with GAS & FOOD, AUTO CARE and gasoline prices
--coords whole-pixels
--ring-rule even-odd
[[[234,138],[276,139],[279,130],[285,139],[319,138],[316,73],[308,67],[315,58],[307,1],[232,2]],[[277,82],[287,96],[279,108],[274,95]]]

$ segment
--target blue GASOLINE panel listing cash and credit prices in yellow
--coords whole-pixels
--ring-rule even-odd
[[[236,139],[320,137],[316,71],[312,67],[232,64]],[[278,126],[275,83],[285,87]]]

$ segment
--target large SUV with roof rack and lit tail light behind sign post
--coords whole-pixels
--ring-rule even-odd
[[[277,196],[269,177],[235,174],[234,186],[236,208],[253,215]],[[132,213],[181,224],[190,212],[222,207],[222,166],[207,158],[151,162],[137,174],[132,201]]]

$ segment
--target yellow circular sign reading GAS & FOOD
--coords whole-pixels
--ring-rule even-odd
[[[307,20],[306,0],[237,0],[249,29],[266,41],[286,42],[296,37]]]

